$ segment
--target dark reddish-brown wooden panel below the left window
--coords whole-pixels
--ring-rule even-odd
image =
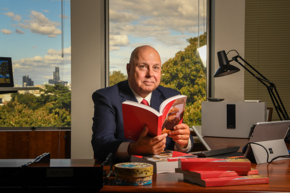
[[[0,131],[0,159],[70,158],[70,131]]]

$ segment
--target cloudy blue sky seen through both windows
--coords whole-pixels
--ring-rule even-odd
[[[71,83],[70,0],[64,7],[61,67],[61,0],[0,0],[0,56],[11,57],[15,86],[26,75],[43,85],[55,67]],[[164,63],[186,48],[186,39],[203,34],[206,0],[109,0],[109,20],[110,72],[127,74],[136,47],[153,46]]]

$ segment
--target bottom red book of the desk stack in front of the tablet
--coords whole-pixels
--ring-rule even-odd
[[[203,187],[220,187],[220,186],[233,186],[233,185],[249,185],[249,184],[269,184],[269,178],[262,175],[249,175],[249,176],[231,176],[221,178],[194,178],[191,176],[183,175],[183,179],[192,183],[199,184]]]

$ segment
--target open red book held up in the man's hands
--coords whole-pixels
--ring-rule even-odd
[[[125,138],[137,141],[145,125],[149,129],[148,136],[153,137],[161,135],[162,129],[168,132],[182,123],[186,98],[178,95],[164,100],[159,112],[145,104],[126,100],[122,103]],[[171,128],[165,129],[165,126]]]

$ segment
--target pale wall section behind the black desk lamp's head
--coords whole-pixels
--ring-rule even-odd
[[[245,0],[212,0],[211,13],[211,77],[219,68],[217,52],[232,49],[244,58],[245,53]],[[236,56],[230,52],[228,58]],[[240,68],[240,72],[212,78],[212,97],[225,98],[228,101],[244,100],[244,69],[236,62],[232,65]]]

